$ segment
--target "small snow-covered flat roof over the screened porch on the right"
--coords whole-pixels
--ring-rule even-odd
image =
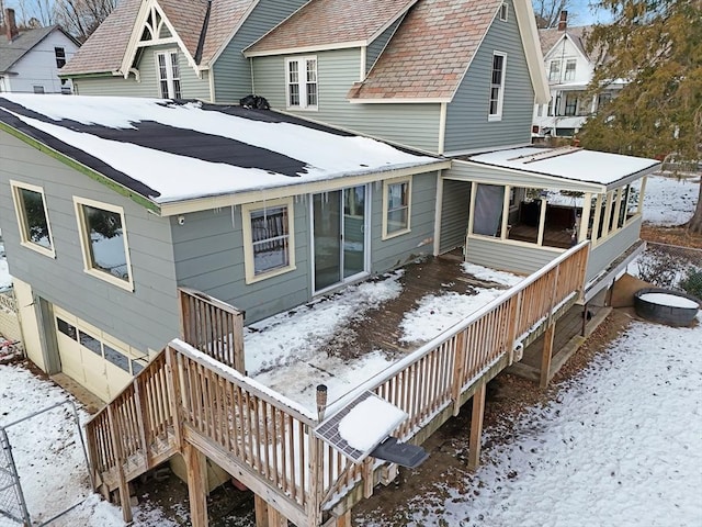
[[[652,173],[660,161],[577,147],[523,147],[468,156],[465,160],[539,176],[593,183],[607,191]]]

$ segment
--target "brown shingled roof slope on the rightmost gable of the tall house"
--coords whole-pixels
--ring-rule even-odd
[[[451,100],[501,0],[421,0],[350,99]]]

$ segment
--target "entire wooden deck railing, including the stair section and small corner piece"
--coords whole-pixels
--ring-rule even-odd
[[[394,433],[409,440],[448,408],[448,415],[457,414],[462,395],[487,370],[508,363],[500,361],[511,360],[523,336],[581,292],[587,257],[587,243],[568,250],[335,402],[327,415],[371,390],[409,415]],[[353,463],[322,444],[313,434],[315,414],[237,371],[236,356],[227,355],[229,344],[224,351],[211,345],[207,338],[231,343],[230,335],[239,335],[230,322],[211,322],[227,319],[236,310],[192,291],[182,291],[181,299],[183,336],[192,341],[171,341],[88,424],[95,472],[103,478],[116,472],[125,487],[124,481],[137,474],[129,460],[140,457],[143,467],[152,466],[149,451],[160,438],[173,451],[190,442],[299,525],[317,525],[321,509],[361,480],[372,491],[373,461]]]

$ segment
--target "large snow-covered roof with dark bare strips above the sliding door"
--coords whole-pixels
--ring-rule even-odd
[[[200,102],[5,94],[2,123],[162,213],[163,205],[190,200],[351,176],[420,173],[450,162],[272,111]]]

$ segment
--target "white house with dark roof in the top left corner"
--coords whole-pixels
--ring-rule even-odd
[[[13,9],[5,9],[0,36],[0,93],[71,93],[58,70],[80,47],[58,25],[20,31]]]

